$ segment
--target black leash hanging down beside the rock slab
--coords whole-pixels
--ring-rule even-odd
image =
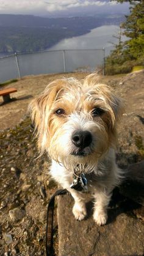
[[[46,220],[46,256],[53,255],[53,219],[54,219],[54,199],[57,195],[67,194],[67,189],[59,189],[49,200]]]

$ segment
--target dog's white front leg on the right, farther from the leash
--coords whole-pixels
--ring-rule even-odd
[[[106,192],[97,192],[94,195],[95,198],[95,205],[94,205],[94,213],[93,219],[95,220],[96,224],[99,226],[106,224],[107,221],[107,206],[109,205],[110,201],[110,194]]]

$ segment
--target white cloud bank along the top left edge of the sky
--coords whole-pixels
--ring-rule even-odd
[[[1,13],[55,12],[88,6],[111,5],[115,2],[98,0],[0,0]]]

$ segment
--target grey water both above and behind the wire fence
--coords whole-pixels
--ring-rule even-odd
[[[101,26],[83,36],[63,39],[48,49],[59,51],[27,53],[17,55],[17,59],[15,56],[0,59],[0,83],[17,78],[19,75],[23,77],[42,73],[102,71],[104,67],[103,47],[106,49],[105,56],[109,55],[110,50],[113,49],[113,43],[118,43],[118,39],[113,35],[118,36],[119,31],[119,27],[115,25]],[[126,40],[126,37],[122,40]]]

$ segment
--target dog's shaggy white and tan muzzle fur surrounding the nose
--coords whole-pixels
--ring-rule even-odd
[[[90,146],[85,148],[74,146],[71,136],[78,129],[91,132],[93,140]],[[64,165],[67,170],[73,171],[79,165],[83,173],[90,173],[99,158],[106,153],[108,140],[104,126],[91,119],[85,119],[83,115],[72,115],[69,121],[57,129],[51,137],[48,153],[52,159]]]

